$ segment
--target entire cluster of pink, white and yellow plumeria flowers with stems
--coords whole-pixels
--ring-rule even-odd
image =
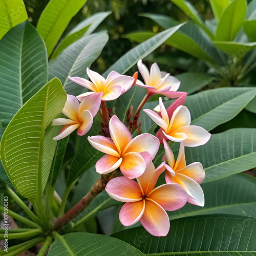
[[[205,177],[203,166],[199,162],[186,165],[185,147],[205,144],[210,134],[202,127],[190,125],[189,110],[183,106],[186,93],[177,92],[180,82],[176,78],[161,72],[156,63],[149,72],[139,60],[138,69],[145,84],[137,79],[137,74],[130,77],[114,71],[106,79],[90,69],[87,69],[87,74],[91,81],[70,77],[91,92],[77,97],[68,95],[62,112],[69,119],[58,118],[53,121],[52,125],[63,125],[59,135],[53,139],[65,138],[76,129],[78,135],[86,134],[101,107],[105,136],[89,136],[88,141],[96,150],[105,153],[95,165],[97,173],[106,175],[120,170],[123,175],[111,179],[105,188],[112,198],[125,202],[119,214],[121,223],[131,226],[140,221],[154,236],[166,236],[170,225],[166,211],[177,210],[187,202],[204,206],[204,194],[200,186]],[[126,127],[111,110],[106,110],[105,101],[117,99],[132,86],[146,88],[147,94],[135,113],[132,106],[127,111]],[[132,127],[138,128],[140,111],[155,93],[178,99],[166,110],[160,97],[160,113],[144,109],[160,129],[155,136],[145,133],[133,138]],[[110,117],[108,113],[111,113]],[[131,117],[133,121],[130,121]],[[176,160],[167,141],[180,143]],[[162,143],[165,151],[163,162],[155,168],[153,160]],[[163,172],[166,184],[155,187]]]

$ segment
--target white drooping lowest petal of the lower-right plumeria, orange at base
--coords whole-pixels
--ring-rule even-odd
[[[203,189],[196,181],[179,173],[176,173],[175,181],[186,190],[188,196],[195,200],[196,205],[204,206]]]

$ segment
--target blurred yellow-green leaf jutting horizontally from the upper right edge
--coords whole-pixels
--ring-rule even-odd
[[[256,42],[214,41],[214,44],[221,51],[238,58],[243,58],[256,47]]]

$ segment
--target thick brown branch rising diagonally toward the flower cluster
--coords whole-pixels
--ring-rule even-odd
[[[91,190],[84,196],[73,208],[71,208],[65,215],[57,219],[54,223],[54,228],[59,230],[62,226],[73,220],[79,215],[92,201],[99,195],[106,187],[106,184],[114,177],[120,176],[121,173],[114,171],[112,175],[101,175],[101,178],[96,181]]]

